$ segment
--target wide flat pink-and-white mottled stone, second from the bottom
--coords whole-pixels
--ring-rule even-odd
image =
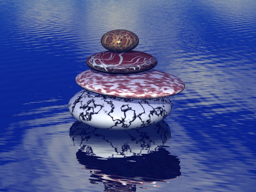
[[[125,98],[167,97],[185,88],[178,77],[154,69],[124,75],[86,70],[76,76],[76,83],[92,92]]]

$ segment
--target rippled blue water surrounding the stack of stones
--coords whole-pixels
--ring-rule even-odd
[[[155,128],[86,132],[68,112],[113,29],[186,84]],[[255,191],[255,44],[254,0],[0,1],[0,191]]]

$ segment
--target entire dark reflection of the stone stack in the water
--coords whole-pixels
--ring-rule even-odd
[[[75,122],[70,137],[79,147],[78,162],[91,171],[90,182],[103,182],[104,191],[136,191],[144,182],[167,182],[181,175],[179,159],[163,148],[171,138],[164,121],[127,131]]]

